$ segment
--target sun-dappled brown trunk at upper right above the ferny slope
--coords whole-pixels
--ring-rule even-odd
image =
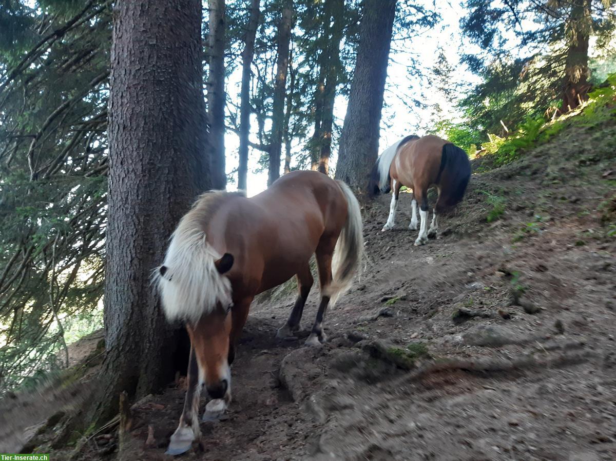
[[[562,91],[562,112],[575,109],[588,99],[588,41],[591,31],[590,0],[573,0],[571,14],[565,25],[567,59]]]

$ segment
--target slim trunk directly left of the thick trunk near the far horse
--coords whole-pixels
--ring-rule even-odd
[[[330,11],[334,24],[327,46],[328,62],[325,89],[323,90],[323,122],[321,124],[318,170],[324,174],[329,174],[331,135],[334,126],[334,101],[336,100],[338,74],[340,73],[340,42],[342,41],[342,32],[344,31],[344,0],[326,1],[331,4]]]

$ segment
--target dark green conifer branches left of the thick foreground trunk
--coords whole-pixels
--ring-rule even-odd
[[[0,394],[102,324],[111,7],[22,3],[0,7]]]

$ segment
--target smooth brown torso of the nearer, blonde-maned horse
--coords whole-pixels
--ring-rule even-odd
[[[219,251],[237,254],[230,278],[255,283],[258,292],[295,275],[324,235],[340,233],[347,215],[338,184],[315,171],[291,172],[262,193],[230,205],[216,217],[224,233],[225,249]]]

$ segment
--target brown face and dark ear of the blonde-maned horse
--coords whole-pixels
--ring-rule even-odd
[[[222,275],[233,266],[233,256],[227,253],[214,264]],[[197,323],[187,324],[199,366],[200,381],[211,398],[224,398],[227,401],[231,395],[230,362],[233,360],[229,339],[233,321],[231,308],[232,304],[222,305],[218,302]]]

